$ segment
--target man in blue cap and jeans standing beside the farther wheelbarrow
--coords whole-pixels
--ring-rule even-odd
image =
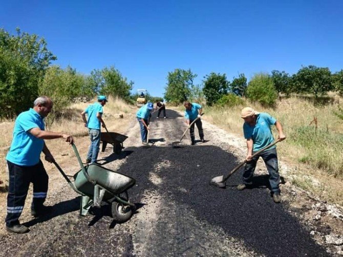
[[[103,95],[98,96],[98,101],[88,105],[88,107],[81,113],[84,126],[88,127],[88,134],[91,139],[91,145],[88,150],[86,163],[96,163],[100,150],[100,134],[101,127],[106,127],[102,119],[102,107],[106,104],[107,98]],[[88,115],[88,120],[85,115]]]

